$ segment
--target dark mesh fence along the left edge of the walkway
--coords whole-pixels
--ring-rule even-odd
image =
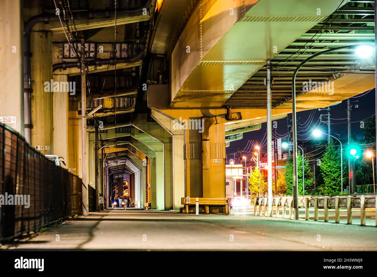
[[[0,197],[30,197],[29,207],[0,203],[0,241],[82,213],[82,181],[78,176],[56,166],[3,124],[0,149]]]

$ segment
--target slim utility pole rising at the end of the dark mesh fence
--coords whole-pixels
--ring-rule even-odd
[[[88,174],[88,156],[87,156],[87,143],[86,143],[86,75],[85,75],[85,43],[81,39],[81,173],[83,180],[83,216],[89,214],[89,195],[87,180]]]

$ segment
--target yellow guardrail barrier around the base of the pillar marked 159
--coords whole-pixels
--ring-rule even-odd
[[[199,213],[230,214],[231,198],[182,197],[181,213],[195,213],[196,199],[199,200]]]

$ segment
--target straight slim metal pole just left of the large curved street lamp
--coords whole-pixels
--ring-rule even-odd
[[[268,216],[272,217],[272,122],[271,122],[271,62],[267,61],[267,196]]]

